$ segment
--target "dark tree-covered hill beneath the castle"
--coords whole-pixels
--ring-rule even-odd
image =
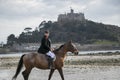
[[[101,41],[120,43],[120,27],[86,20],[85,23],[81,21],[65,21],[63,23],[44,21],[44,27],[39,26],[39,30],[22,32],[18,38],[11,34],[8,36],[7,44],[40,42],[44,30],[50,31],[50,38],[53,43],[69,40],[81,44],[92,44]]]

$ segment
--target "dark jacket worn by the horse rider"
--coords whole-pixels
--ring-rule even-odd
[[[38,49],[38,53],[46,54],[49,52],[51,49],[51,41],[50,39],[46,39],[45,36],[41,40],[41,46]]]

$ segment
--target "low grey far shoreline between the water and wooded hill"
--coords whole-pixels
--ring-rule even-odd
[[[61,44],[63,43],[57,43],[57,44],[52,44],[53,48],[58,48]],[[23,45],[14,45],[10,48],[0,48],[0,54],[8,54],[10,52],[37,52],[37,49],[39,48],[38,43],[26,43]],[[75,43],[77,49],[79,51],[109,51],[109,50],[120,50],[119,45],[103,45],[103,44],[84,44],[80,45],[78,43]]]

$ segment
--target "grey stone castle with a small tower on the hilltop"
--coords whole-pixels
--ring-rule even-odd
[[[58,22],[65,22],[65,21],[85,21],[84,13],[74,13],[74,10],[71,9],[70,13],[67,14],[60,14],[58,16]]]

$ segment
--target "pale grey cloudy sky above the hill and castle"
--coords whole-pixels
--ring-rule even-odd
[[[120,26],[120,0],[0,0],[0,43],[25,27],[56,21],[59,14],[83,12],[86,19]]]

